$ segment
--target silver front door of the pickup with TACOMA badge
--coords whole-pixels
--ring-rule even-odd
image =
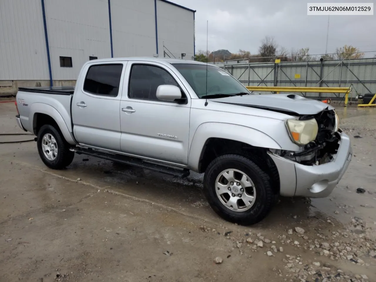
[[[186,165],[190,125],[189,95],[179,78],[156,62],[129,62],[120,101],[121,151]],[[184,104],[158,100],[159,85],[180,87]]]

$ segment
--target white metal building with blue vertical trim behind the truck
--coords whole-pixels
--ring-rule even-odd
[[[167,0],[0,0],[0,93],[74,85],[89,59],[194,57],[194,13]]]

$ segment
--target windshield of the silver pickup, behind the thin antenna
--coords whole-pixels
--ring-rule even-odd
[[[208,65],[208,88],[206,89],[206,65],[173,64],[193,88],[199,98],[204,96],[250,94],[238,80],[220,68]]]

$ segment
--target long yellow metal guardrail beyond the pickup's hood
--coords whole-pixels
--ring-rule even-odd
[[[351,87],[246,86],[246,88],[250,91],[271,91],[271,92],[277,92],[277,93],[278,92],[344,93],[345,94],[345,107],[349,103],[349,93],[351,92]]]

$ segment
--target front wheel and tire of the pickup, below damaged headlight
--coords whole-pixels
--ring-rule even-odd
[[[252,157],[223,155],[205,171],[204,192],[212,209],[223,219],[241,225],[258,223],[274,203],[269,175]]]

